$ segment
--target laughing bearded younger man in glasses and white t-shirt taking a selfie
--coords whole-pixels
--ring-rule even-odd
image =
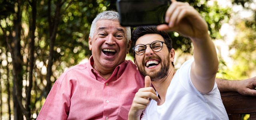
[[[193,7],[176,1],[167,10],[166,21],[169,24],[158,30],[143,26],[132,34],[134,63],[146,77],[128,119],[140,119],[146,108],[142,120],[228,120],[215,83],[218,58],[206,22]],[[175,55],[172,41],[165,31],[159,31],[166,29],[189,37],[194,45],[194,60],[177,71],[171,64]]]

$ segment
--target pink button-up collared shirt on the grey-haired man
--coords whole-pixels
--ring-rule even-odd
[[[132,61],[124,61],[105,80],[92,68],[94,60],[75,65],[54,83],[37,120],[128,119],[144,77]]]

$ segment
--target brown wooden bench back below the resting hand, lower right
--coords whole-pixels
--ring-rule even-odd
[[[238,92],[221,93],[229,120],[242,120],[244,114],[250,114],[250,120],[256,120],[256,96],[244,96]]]

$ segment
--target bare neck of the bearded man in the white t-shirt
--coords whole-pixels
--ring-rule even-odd
[[[172,78],[174,77],[175,72],[176,71],[174,71],[174,67],[172,67],[166,77],[158,81],[152,81],[152,85],[158,92],[158,95],[160,96],[160,99],[161,99],[161,102],[158,103],[158,105],[161,105],[165,102],[166,92],[172,81]]]

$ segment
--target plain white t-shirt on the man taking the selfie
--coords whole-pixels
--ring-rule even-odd
[[[151,100],[141,120],[228,120],[217,84],[209,93],[199,92],[190,79],[193,60],[178,69],[167,89],[164,104]]]

